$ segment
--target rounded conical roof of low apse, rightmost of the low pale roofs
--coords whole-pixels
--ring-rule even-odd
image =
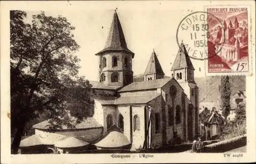
[[[113,129],[107,132],[106,135],[104,135],[103,139],[96,143],[95,146],[101,148],[120,148],[130,144],[131,142],[120,130]]]

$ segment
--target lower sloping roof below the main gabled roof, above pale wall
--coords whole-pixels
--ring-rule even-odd
[[[161,94],[140,95],[140,96],[121,96],[116,99],[115,104],[144,104],[157,98]]]

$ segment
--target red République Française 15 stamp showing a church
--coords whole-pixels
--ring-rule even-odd
[[[209,73],[248,72],[248,9],[239,9],[207,9],[221,22],[208,28],[208,57],[217,53],[217,56],[208,59]]]

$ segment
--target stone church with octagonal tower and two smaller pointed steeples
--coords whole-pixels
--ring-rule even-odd
[[[90,81],[91,97],[95,100],[93,118],[103,126],[103,133],[116,125],[132,143],[132,150],[172,145],[177,138],[180,142],[195,139],[199,90],[183,43],[170,77],[164,76],[153,50],[144,81],[133,83],[135,53],[127,47],[115,11],[105,47],[96,56],[99,80]]]

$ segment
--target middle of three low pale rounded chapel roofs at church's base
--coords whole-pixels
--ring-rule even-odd
[[[69,136],[64,140],[55,142],[54,146],[58,148],[74,148],[89,145],[90,143],[86,142],[84,139],[78,136]]]

